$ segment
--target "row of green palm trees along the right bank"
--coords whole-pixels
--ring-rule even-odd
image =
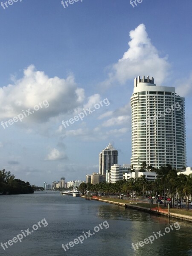
[[[182,198],[189,199],[192,195],[192,175],[177,175],[177,170],[172,168],[171,165],[161,166],[160,169],[155,169],[153,166],[147,165],[146,162],[141,164],[141,172],[153,171],[157,172],[157,179],[154,181],[148,181],[145,175],[141,175],[137,179],[131,178],[129,180],[119,180],[116,183],[81,183],[79,190],[84,194],[85,191],[89,193],[94,193],[95,195],[104,195],[105,197],[113,198],[125,198],[125,195],[132,195],[131,199],[142,196],[145,198],[146,195],[154,195],[158,197],[159,195],[171,198],[170,207],[174,207],[174,200],[176,202],[181,201]],[[131,172],[134,172],[131,168]],[[164,205],[166,206],[166,200],[164,200]],[[178,203],[177,203],[178,209]],[[186,203],[186,210],[189,209]]]

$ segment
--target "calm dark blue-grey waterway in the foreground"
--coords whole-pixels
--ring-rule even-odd
[[[0,196],[0,243],[12,240],[21,230],[44,219],[41,228],[8,249],[0,247],[5,256],[188,256],[192,255],[192,224],[179,221],[172,231],[134,250],[138,243],[174,224],[165,217],[157,217],[133,209],[125,209],[98,201],[87,201],[55,192],[35,192],[32,195]],[[109,227],[106,222],[109,224]],[[43,224],[46,226],[46,221]],[[64,251],[61,244],[69,244],[99,224],[105,228]],[[36,228],[36,226],[35,226]],[[97,229],[98,230],[98,229]],[[162,232],[161,232],[162,233]],[[87,234],[88,236],[88,234]],[[158,237],[158,235],[157,235]]]

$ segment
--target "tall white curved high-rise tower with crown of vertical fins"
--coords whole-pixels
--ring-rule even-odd
[[[131,165],[186,166],[185,102],[175,87],[156,86],[153,77],[134,79]]]

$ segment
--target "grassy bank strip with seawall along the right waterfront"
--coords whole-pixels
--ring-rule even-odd
[[[123,199],[116,199],[116,198],[105,198],[102,196],[90,196],[86,197],[86,195],[81,195],[81,198],[87,199],[87,200],[94,200],[94,201],[101,201],[108,204],[116,204],[118,206],[122,206],[125,208],[132,208],[137,209],[140,211],[149,212],[156,215],[164,215],[169,218],[177,218],[183,221],[190,221],[192,222],[192,211],[186,211],[185,209],[171,209],[170,212],[168,212],[167,207],[164,207],[160,205],[158,210],[157,204],[148,204],[147,202],[143,201],[128,201]],[[151,207],[151,209],[150,209]]]

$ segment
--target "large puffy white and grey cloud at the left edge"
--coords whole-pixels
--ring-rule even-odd
[[[1,118],[12,118],[22,110],[32,109],[47,100],[49,108],[41,108],[23,121],[46,122],[51,117],[73,112],[84,100],[84,89],[78,88],[73,75],[67,79],[49,78],[43,71],[30,65],[23,78],[0,88]]]

